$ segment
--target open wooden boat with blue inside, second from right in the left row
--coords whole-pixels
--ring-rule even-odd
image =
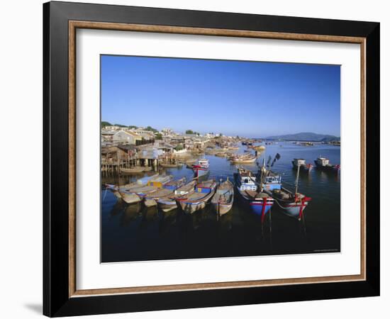
[[[192,214],[206,207],[206,203],[211,200],[216,191],[216,181],[209,179],[196,184],[194,193],[177,198],[177,203],[182,207],[184,213]]]

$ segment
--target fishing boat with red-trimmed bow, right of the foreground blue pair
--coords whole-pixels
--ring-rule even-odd
[[[287,216],[298,218],[298,220],[301,220],[303,210],[308,206],[308,202],[311,201],[310,197],[306,197],[298,192],[300,168],[301,166],[298,166],[294,192],[282,186],[282,177],[279,174],[275,174],[274,172],[265,169],[264,166],[260,173],[260,180],[264,192],[274,198]]]

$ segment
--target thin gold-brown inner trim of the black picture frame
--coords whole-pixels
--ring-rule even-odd
[[[360,116],[361,116],[361,209],[360,209],[360,274],[347,276],[319,276],[291,279],[271,279],[254,281],[230,281],[204,284],[177,284],[165,286],[123,287],[106,289],[77,290],[76,287],[76,29],[128,30],[155,33],[179,33],[189,35],[219,35],[243,38],[269,38],[279,40],[306,40],[335,43],[360,44],[361,79],[360,79]],[[127,23],[103,23],[90,21],[69,21],[69,298],[91,295],[118,293],[156,293],[167,291],[188,291],[205,289],[231,289],[253,286],[279,286],[291,284],[314,284],[340,281],[366,280],[366,39],[358,37],[313,35],[299,33],[274,33],[250,30],[227,30],[211,28],[186,28],[174,26],[152,26]]]

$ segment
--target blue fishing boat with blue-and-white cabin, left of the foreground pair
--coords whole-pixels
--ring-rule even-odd
[[[247,169],[239,168],[234,179],[239,198],[253,213],[260,216],[263,222],[269,208],[274,204],[272,196],[262,191],[255,175]]]

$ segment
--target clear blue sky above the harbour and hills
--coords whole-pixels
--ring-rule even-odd
[[[340,136],[340,66],[102,55],[101,120],[253,138]]]

